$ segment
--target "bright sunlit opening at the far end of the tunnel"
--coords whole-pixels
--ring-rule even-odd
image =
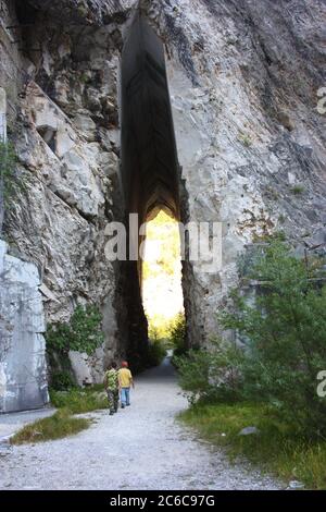
[[[142,302],[150,338],[167,338],[171,325],[184,313],[184,297],[178,222],[163,210],[147,223]]]

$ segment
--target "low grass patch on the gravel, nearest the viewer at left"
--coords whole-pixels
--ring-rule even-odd
[[[85,430],[89,427],[90,423],[90,419],[73,417],[71,411],[62,409],[53,414],[53,416],[38,419],[23,427],[11,438],[11,443],[24,444],[27,442],[43,442],[52,439],[61,439]]]

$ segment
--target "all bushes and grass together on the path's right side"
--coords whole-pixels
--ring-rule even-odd
[[[184,418],[230,454],[325,488],[326,399],[317,393],[326,369],[324,261],[303,261],[277,239],[251,256],[244,273],[260,282],[254,300],[235,291],[220,315],[234,341],[217,339],[177,359],[192,405]],[[260,435],[238,436],[252,425]]]

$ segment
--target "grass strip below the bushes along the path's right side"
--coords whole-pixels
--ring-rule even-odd
[[[225,447],[231,460],[242,455],[286,483],[296,479],[309,489],[326,489],[326,442],[306,441],[264,404],[196,404],[179,417],[202,437]],[[255,426],[260,434],[239,436],[248,426]]]

